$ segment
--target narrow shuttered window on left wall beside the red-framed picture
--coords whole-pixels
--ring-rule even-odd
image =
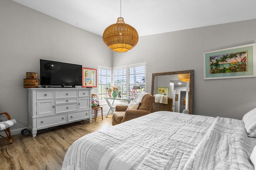
[[[108,96],[107,87],[111,84],[111,68],[98,68],[98,98],[103,100]]]

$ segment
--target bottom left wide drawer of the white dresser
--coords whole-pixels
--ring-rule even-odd
[[[37,128],[52,127],[67,122],[66,114],[37,118]]]

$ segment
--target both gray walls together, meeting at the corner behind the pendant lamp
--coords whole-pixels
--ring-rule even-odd
[[[39,73],[39,59],[89,68],[146,61],[149,93],[152,73],[194,70],[194,114],[242,119],[256,106],[256,78],[203,80],[203,53],[254,43],[256,20],[143,36],[131,51],[113,53],[98,35],[1,0],[0,30],[0,112],[18,120],[12,129],[28,126],[23,79],[26,72]],[[97,93],[96,88],[92,92]]]

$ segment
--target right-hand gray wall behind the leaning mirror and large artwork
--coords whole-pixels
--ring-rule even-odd
[[[131,51],[113,53],[113,66],[146,61],[149,93],[152,73],[194,70],[193,113],[242,119],[256,107],[256,78],[204,80],[203,53],[255,43],[255,30],[254,19],[139,37]]]

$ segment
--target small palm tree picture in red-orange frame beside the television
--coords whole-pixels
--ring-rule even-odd
[[[82,68],[82,86],[97,87],[97,69]]]

